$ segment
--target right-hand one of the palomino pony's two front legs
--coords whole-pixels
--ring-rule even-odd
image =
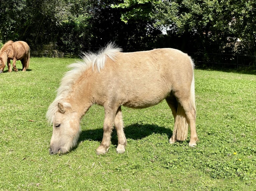
[[[123,122],[123,115],[121,106],[118,108],[116,112],[116,117],[114,120],[114,125],[117,131],[117,137],[118,137],[118,145],[116,152],[117,153],[124,153],[125,146],[127,145],[127,140],[124,134],[124,122]]]

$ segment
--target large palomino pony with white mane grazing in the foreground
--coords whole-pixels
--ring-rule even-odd
[[[103,139],[97,154],[108,151],[113,126],[118,135],[117,153],[125,152],[121,105],[144,108],[166,99],[174,116],[174,130],[169,142],[187,138],[189,146],[198,140],[194,63],[187,54],[164,48],[122,53],[109,44],[98,54],[85,54],[83,62],[71,64],[62,78],[57,95],[46,117],[53,124],[50,154],[69,152],[77,144],[80,120],[93,104],[105,109]]]

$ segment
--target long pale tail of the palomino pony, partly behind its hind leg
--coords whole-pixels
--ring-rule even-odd
[[[194,63],[191,60],[191,64],[194,69]],[[196,101],[195,101],[195,78],[193,72],[193,79],[190,85],[190,104],[191,107],[194,107],[196,111]],[[170,139],[170,143],[177,141],[184,141],[187,138],[188,132],[188,119],[185,114],[185,110],[183,109],[182,105],[178,102],[177,112],[175,116],[174,122],[174,129],[172,133],[172,137]]]

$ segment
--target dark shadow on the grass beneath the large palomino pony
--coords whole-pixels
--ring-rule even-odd
[[[157,134],[167,134],[168,139],[172,135],[172,130],[167,129],[166,127],[154,125],[154,124],[138,124],[134,123],[124,128],[126,138],[138,140],[143,139],[153,133]],[[93,129],[93,130],[83,130],[81,132],[79,142],[84,140],[93,140],[93,141],[102,141],[103,129]],[[117,145],[117,133],[116,130],[112,132],[112,144]]]

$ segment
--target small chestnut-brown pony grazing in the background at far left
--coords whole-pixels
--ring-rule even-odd
[[[0,50],[0,73],[4,71],[5,65],[7,63],[8,72],[12,71],[12,67],[15,72],[18,71],[16,68],[16,61],[20,60],[22,63],[22,71],[26,71],[29,66],[30,59],[30,48],[24,41],[8,41]]]

